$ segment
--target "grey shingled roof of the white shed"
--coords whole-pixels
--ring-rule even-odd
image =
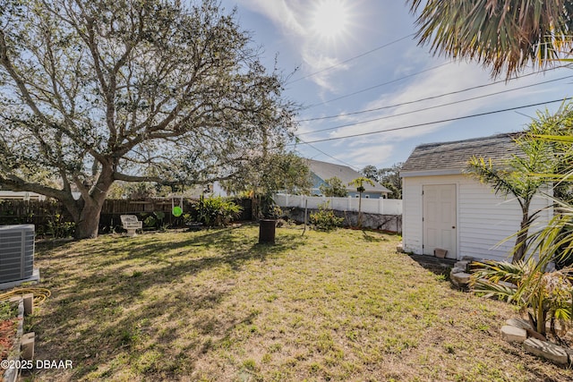
[[[520,132],[471,140],[423,144],[414,149],[400,170],[401,176],[461,174],[471,157],[491,158],[500,163],[521,154],[515,143]]]

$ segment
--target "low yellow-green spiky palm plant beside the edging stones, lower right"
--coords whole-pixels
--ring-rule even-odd
[[[516,303],[526,311],[537,333],[546,335],[548,321],[555,337],[555,320],[562,328],[569,327],[573,268],[548,271],[547,264],[543,267],[532,258],[516,263],[482,261],[473,265],[478,268],[470,280],[473,290]]]

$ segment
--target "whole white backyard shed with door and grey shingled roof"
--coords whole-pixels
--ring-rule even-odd
[[[515,134],[418,146],[400,171],[403,178],[402,238],[404,249],[447,258],[509,259],[521,221],[521,208],[512,195],[496,195],[487,184],[463,174],[471,157],[489,157],[501,164],[519,155]],[[549,191],[548,191],[549,192]],[[551,202],[535,197],[531,212],[541,210],[537,224],[552,216]],[[534,228],[535,229],[535,228]],[[502,243],[500,243],[502,242]]]

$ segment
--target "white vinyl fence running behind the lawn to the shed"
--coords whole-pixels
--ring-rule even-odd
[[[358,211],[358,198],[328,198],[325,196],[304,196],[276,194],[273,199],[279,207],[319,208],[329,201],[329,208],[337,211]],[[362,212],[381,215],[402,215],[402,199],[362,199]]]

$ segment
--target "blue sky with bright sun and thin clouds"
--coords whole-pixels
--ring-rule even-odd
[[[302,157],[355,170],[389,167],[423,143],[522,131],[573,94],[571,68],[529,68],[505,81],[476,62],[433,55],[418,45],[405,1],[222,5],[236,8],[269,71],[277,66],[285,76],[284,96],[300,106],[289,149]]]

